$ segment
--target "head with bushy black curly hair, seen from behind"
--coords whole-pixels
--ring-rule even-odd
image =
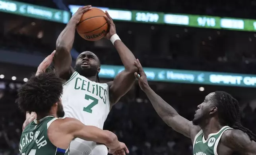
[[[18,91],[16,102],[19,108],[41,116],[52,114],[64,117],[60,99],[62,82],[53,72],[32,76]]]

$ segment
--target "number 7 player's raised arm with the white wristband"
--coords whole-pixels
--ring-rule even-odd
[[[107,11],[106,14],[107,16],[105,16],[105,18],[110,25],[110,30],[106,38],[114,40],[114,37],[117,36],[116,28],[112,18]],[[135,81],[135,77],[133,74],[134,72],[138,71],[138,68],[134,65],[134,60],[136,59],[130,49],[128,49],[128,47],[126,47],[126,45],[121,40],[114,41],[114,47],[118,51],[122,63],[124,64],[124,71],[120,72],[114,78],[114,81],[108,83],[110,90],[111,106],[114,105],[122,96],[124,96],[131,89]]]

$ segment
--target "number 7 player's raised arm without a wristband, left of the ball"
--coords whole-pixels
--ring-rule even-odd
[[[83,13],[90,9],[91,6],[83,6],[79,8],[58,36],[56,42],[56,53],[54,55],[54,68],[56,74],[63,79],[69,79],[74,72],[71,68],[72,57],[70,55],[70,51],[75,39],[76,25],[80,22]]]

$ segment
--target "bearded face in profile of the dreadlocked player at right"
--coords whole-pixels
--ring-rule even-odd
[[[193,124],[200,125],[205,123],[210,117],[212,117],[212,113],[215,112],[215,104],[214,104],[214,93],[210,93],[204,99],[204,102],[197,106],[196,114],[194,115]]]

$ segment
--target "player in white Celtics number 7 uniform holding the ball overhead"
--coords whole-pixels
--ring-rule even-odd
[[[73,46],[76,25],[81,15],[91,9],[84,6],[72,16],[66,28],[60,33],[56,42],[54,68],[58,76],[66,82],[63,86],[62,104],[65,117],[73,117],[85,125],[93,125],[103,129],[104,122],[111,107],[132,87],[138,68],[134,65],[135,57],[116,34],[115,25],[110,15],[105,17],[110,30],[106,38],[111,40],[124,64],[124,71],[120,72],[114,81],[98,83],[100,61],[90,52],[82,52],[76,59],[76,66],[71,67],[70,51]],[[85,42],[86,43],[86,42]],[[88,142],[76,138],[70,144],[70,155],[107,155],[107,147],[95,142]]]

